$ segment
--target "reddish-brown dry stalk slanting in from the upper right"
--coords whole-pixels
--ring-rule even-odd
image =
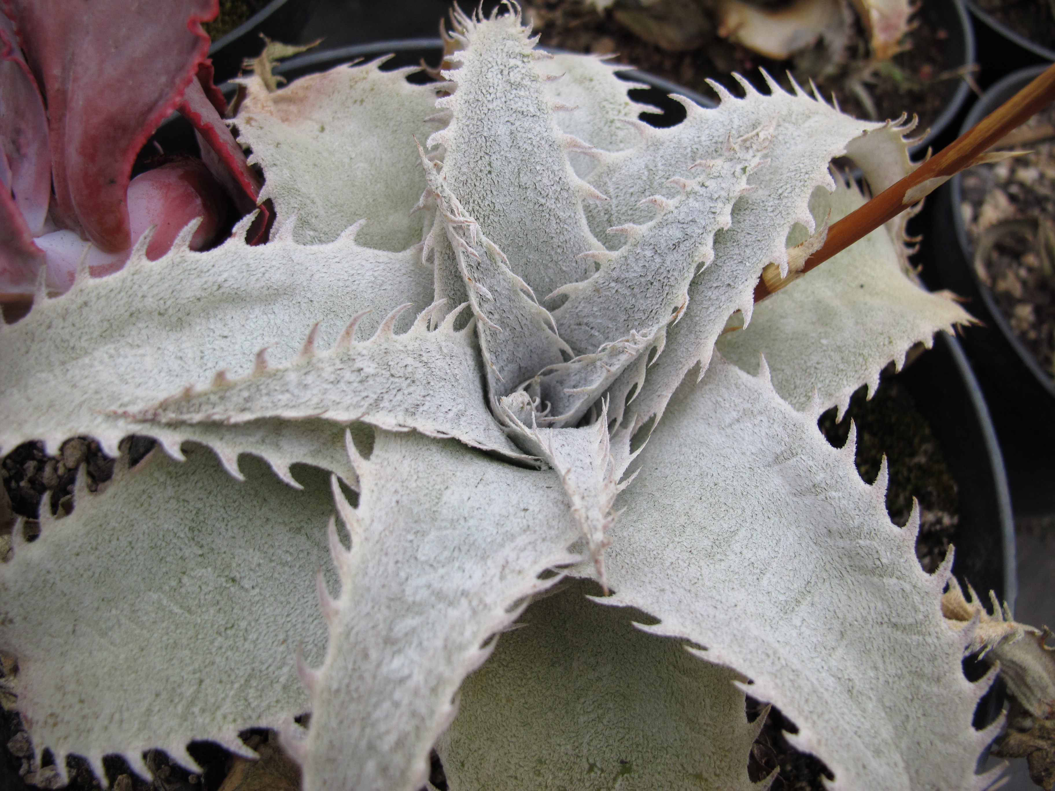
[[[923,162],[860,209],[835,223],[828,229],[824,246],[806,259],[802,271],[808,272],[832,255],[842,252],[909,206],[922,200],[961,170],[977,161],[984,161],[985,151],[993,143],[1017,129],[1052,101],[1055,101],[1055,65],[1050,66],[999,109],[960,135],[941,153]],[[765,282],[760,278],[754,289],[754,301],[764,300],[770,293],[772,292],[766,287]]]

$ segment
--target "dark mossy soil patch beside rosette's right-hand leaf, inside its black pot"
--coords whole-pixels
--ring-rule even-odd
[[[857,425],[857,465],[868,483],[879,475],[886,456],[889,485],[886,507],[890,520],[904,525],[912,513],[913,498],[919,501],[920,532],[916,557],[927,573],[945,557],[959,520],[959,497],[941,449],[923,416],[916,409],[908,390],[896,377],[884,373],[870,401],[861,388],[850,400],[843,420],[836,423],[836,410],[821,416],[821,431],[836,447],[846,443],[850,421]]]

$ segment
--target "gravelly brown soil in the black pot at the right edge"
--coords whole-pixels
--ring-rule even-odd
[[[964,172],[960,206],[979,279],[1049,375],[1055,375],[1053,123],[1055,111],[1034,116],[1013,133],[1051,133],[1014,147],[1031,153]]]

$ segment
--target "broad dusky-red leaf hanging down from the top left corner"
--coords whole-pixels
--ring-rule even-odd
[[[216,0],[7,6],[47,104],[58,214],[101,250],[126,250],[132,162],[194,79]]]

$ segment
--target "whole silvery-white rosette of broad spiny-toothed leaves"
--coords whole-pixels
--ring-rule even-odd
[[[747,789],[750,689],[836,788],[983,788],[948,562],[817,428],[966,316],[897,224],[752,302],[864,200],[832,157],[878,191],[905,129],[746,83],[652,129],[516,13],[455,36],[446,83],[246,79],[274,237],[141,240],[0,328],[3,447],[164,448],[0,566],[35,748],[268,727],[312,790],[413,791],[434,746],[452,789]]]

